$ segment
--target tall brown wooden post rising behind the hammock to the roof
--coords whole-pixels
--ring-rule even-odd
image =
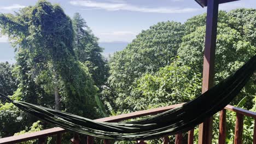
[[[218,0],[207,1],[205,55],[203,57],[202,93],[214,85],[214,59],[217,37]],[[212,143],[212,117],[199,125],[199,144]]]

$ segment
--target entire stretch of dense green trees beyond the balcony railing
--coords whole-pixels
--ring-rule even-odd
[[[59,5],[39,1],[0,14],[1,34],[8,35],[16,55],[15,64],[0,63],[0,92],[91,119],[187,102],[201,93],[205,23],[206,14],[184,23],[159,22],[106,59],[79,13],[70,18]],[[217,33],[216,83],[256,55],[256,9],[219,11]],[[256,74],[231,104],[256,112]],[[234,119],[235,113],[227,113],[227,143],[234,141]],[[217,113],[213,143],[218,143],[218,121]],[[252,142],[253,125],[246,117],[245,143]],[[0,137],[50,127],[0,101]],[[69,143],[71,137],[62,139]]]

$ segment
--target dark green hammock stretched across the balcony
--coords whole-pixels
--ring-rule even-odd
[[[150,140],[188,131],[202,123],[205,118],[224,109],[245,86],[255,69],[256,55],[234,74],[194,100],[149,118],[123,123],[97,122],[67,112],[12,101],[2,96],[21,110],[43,121],[80,134],[112,140]]]

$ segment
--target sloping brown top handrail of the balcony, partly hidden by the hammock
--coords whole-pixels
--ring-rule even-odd
[[[124,121],[124,120],[131,119],[131,118],[138,118],[138,117],[148,116],[148,115],[156,115],[158,113],[171,110],[175,107],[182,106],[183,104],[164,106],[164,107],[159,107],[159,108],[156,108],[156,109],[149,109],[149,110],[131,112],[131,113],[126,113],[126,114],[122,114],[122,115],[118,115],[118,116],[100,118],[100,119],[95,119],[95,120],[99,121],[99,122],[120,122],[120,121]],[[234,111],[234,112],[236,112],[238,114],[241,114],[241,115],[253,117],[253,118],[256,119],[256,113],[252,112],[252,111],[240,109],[238,107],[234,107],[234,106],[231,106],[231,105],[226,106],[225,109],[229,110],[229,111]],[[40,137],[47,137],[47,136],[52,136],[52,135],[56,135],[56,134],[66,133],[67,131],[68,130],[56,127],[56,128],[37,131],[37,132],[34,132],[34,133],[29,133],[29,134],[22,134],[22,135],[18,135],[18,136],[4,137],[4,138],[0,139],[0,143],[1,144],[2,143],[18,143],[18,142],[23,142],[23,141],[28,141],[28,140],[39,139]],[[256,137],[256,136],[254,136],[254,137]]]

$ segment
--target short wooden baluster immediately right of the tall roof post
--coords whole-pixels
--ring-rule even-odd
[[[219,144],[226,143],[226,110],[219,112]]]

